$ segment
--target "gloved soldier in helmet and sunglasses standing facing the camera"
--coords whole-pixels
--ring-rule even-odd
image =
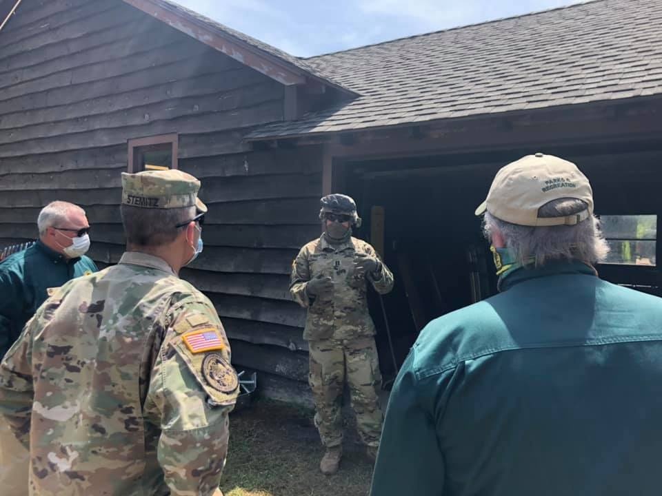
[[[393,287],[393,275],[367,242],[352,237],[360,226],[357,206],[349,196],[321,199],[324,233],[299,251],[292,264],[290,293],[308,309],[303,338],[310,349],[310,388],[315,425],[326,453],[320,470],[338,470],[342,455],[342,395],[350,387],[361,439],[373,460],[379,446],[381,385],[374,324],[368,312],[368,282],[379,293]]]

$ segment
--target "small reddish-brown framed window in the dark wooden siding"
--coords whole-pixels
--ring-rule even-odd
[[[178,144],[177,134],[129,140],[129,172],[177,169]]]

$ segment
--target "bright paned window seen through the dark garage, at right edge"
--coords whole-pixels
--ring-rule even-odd
[[[655,267],[656,215],[600,216],[611,249],[605,263]]]

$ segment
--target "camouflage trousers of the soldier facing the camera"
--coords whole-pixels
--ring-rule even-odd
[[[322,444],[343,441],[342,401],[345,380],[361,440],[379,446],[383,416],[377,392],[381,386],[374,338],[310,341],[308,382],[315,402],[315,426]]]

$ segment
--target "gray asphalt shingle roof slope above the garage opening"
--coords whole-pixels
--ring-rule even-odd
[[[662,0],[596,0],[303,61],[359,98],[248,138],[662,93]]]

